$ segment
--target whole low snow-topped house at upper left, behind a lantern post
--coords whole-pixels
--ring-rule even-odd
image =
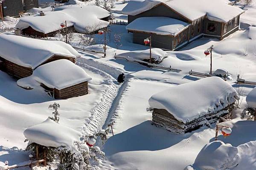
[[[76,12],[73,12],[76,11]],[[81,34],[92,33],[109,26],[110,13],[99,6],[61,6],[29,17],[21,17],[17,29],[29,37],[53,37],[70,30]],[[65,26],[61,27],[61,23]]]

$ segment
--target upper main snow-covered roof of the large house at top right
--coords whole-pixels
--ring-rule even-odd
[[[241,8],[228,5],[227,2],[227,0],[131,0],[123,8],[122,13],[137,15],[164,3],[190,21],[207,16],[209,20],[227,23],[244,12]]]

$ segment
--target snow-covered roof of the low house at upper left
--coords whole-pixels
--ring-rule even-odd
[[[100,19],[110,15],[107,10],[99,6],[61,6],[55,8],[55,11],[44,14],[45,16],[35,14],[21,17],[16,28],[24,29],[31,26],[34,30],[47,34],[60,30],[60,24],[67,21],[67,27],[74,26],[79,33],[86,33],[86,26],[95,29],[92,31],[107,27],[109,22]]]

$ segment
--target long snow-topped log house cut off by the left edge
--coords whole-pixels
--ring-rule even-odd
[[[32,75],[40,65],[58,59],[76,62],[79,53],[61,41],[38,40],[16,35],[0,35],[1,69],[15,78]],[[15,49],[15,50],[14,50]]]

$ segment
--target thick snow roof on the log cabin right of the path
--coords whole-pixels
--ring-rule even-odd
[[[226,108],[236,101],[236,95],[236,90],[220,77],[207,77],[154,94],[149,99],[149,105],[165,109],[177,120],[186,123]]]

